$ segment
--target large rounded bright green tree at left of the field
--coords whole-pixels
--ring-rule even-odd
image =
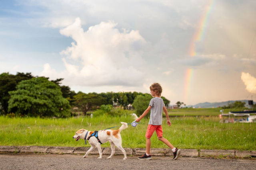
[[[60,87],[47,78],[38,77],[21,81],[16,91],[9,92],[8,111],[28,116],[70,115],[68,100],[62,97]]]

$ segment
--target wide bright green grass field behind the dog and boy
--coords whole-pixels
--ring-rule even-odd
[[[82,121],[83,119],[83,121]],[[90,131],[106,129],[130,123],[130,116],[122,117],[80,117],[68,119],[7,118],[0,117],[0,145],[38,145],[90,147],[84,140],[72,139],[78,129]],[[162,125],[164,137],[180,149],[239,149],[256,150],[256,123],[220,123],[218,117],[171,117],[171,127]],[[148,119],[142,119],[137,128],[128,125],[121,132],[122,146],[129,148],[146,147]],[[118,129],[114,128],[114,129]],[[151,138],[152,148],[167,148],[158,141],[156,133]],[[105,143],[102,147],[110,147]]]

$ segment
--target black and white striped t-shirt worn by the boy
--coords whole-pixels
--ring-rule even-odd
[[[150,119],[149,125],[162,125],[162,113],[164,107],[164,101],[162,98],[152,98],[150,100],[149,106],[151,106],[150,110]]]

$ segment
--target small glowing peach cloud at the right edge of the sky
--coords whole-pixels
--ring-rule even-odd
[[[256,93],[256,78],[249,73],[242,72],[241,79],[250,93]]]

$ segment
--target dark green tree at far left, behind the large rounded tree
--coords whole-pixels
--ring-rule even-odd
[[[8,113],[8,101],[10,100],[10,94],[8,92],[16,90],[16,86],[22,80],[29,80],[33,78],[32,74],[17,72],[16,75],[4,72],[0,74],[0,113]]]

